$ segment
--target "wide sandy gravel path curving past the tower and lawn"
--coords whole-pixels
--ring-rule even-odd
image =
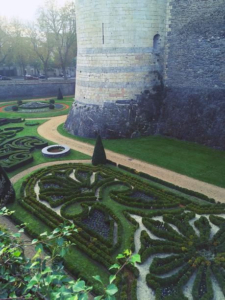
[[[66,118],[66,115],[52,117],[50,120],[38,127],[39,135],[58,144],[67,144],[76,151],[92,156],[94,149],[93,145],[72,138],[64,137],[57,132],[57,127],[61,123],[65,122]],[[129,157],[110,150],[106,150],[106,155],[107,158],[111,161],[121,163],[138,171],[148,173],[154,177],[160,178],[172,184],[195,190],[207,195],[210,198],[214,198],[217,201],[225,203],[225,188],[216,185],[210,185],[147,162],[142,162],[136,159],[129,161]]]

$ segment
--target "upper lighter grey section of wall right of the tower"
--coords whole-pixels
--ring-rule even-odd
[[[225,87],[224,0],[170,0],[168,86]]]

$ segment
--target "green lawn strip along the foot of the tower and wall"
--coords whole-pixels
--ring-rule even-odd
[[[57,130],[65,137],[95,144],[94,138],[82,138],[69,134],[63,128],[63,124],[59,125]],[[106,149],[111,151],[164,167],[203,182],[225,187],[225,151],[162,136],[105,139],[103,144]]]

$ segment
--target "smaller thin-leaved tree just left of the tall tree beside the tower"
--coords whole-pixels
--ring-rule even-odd
[[[48,31],[41,31],[41,26],[39,25],[29,25],[28,26],[28,35],[30,37],[30,41],[33,45],[33,49],[38,56],[38,58],[41,60],[43,67],[44,67],[44,73],[46,75],[46,79],[48,79],[48,66],[50,61],[50,56],[52,54],[54,45],[52,41],[52,36],[50,32]]]

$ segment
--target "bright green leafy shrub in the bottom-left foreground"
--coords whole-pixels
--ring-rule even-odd
[[[6,208],[0,210],[0,216],[9,216],[14,211]],[[77,233],[75,225],[60,226],[54,229],[50,235],[43,232],[32,242],[21,240],[27,224],[22,224],[17,233],[8,233],[1,230],[0,234],[0,298],[1,299],[73,299],[88,300],[91,286],[86,286],[85,281],[69,278],[63,270],[62,259],[67,254],[70,246],[74,245],[68,241],[68,236]],[[78,233],[77,233],[78,234]],[[36,254],[32,259],[25,257],[25,248],[34,246]],[[44,253],[48,251],[48,255]],[[117,259],[124,259],[122,265],[115,263],[109,270],[115,269],[115,275],[109,277],[109,284],[104,284],[99,275],[93,276],[103,286],[104,294],[97,296],[94,300],[115,300],[114,295],[118,288],[113,281],[119,272],[127,264],[134,265],[141,262],[140,255],[132,255],[126,250],[118,254]]]

